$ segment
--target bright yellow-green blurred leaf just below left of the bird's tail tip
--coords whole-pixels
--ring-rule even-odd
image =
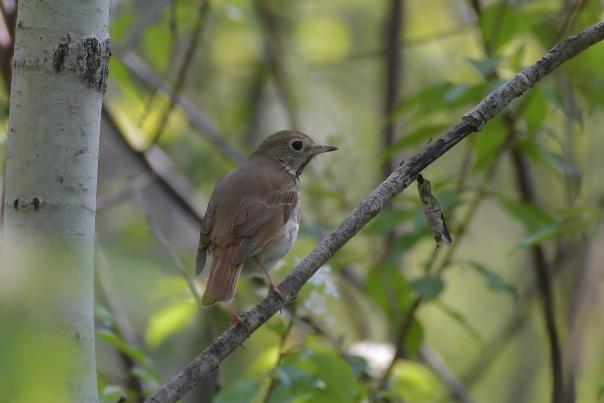
[[[147,346],[158,347],[166,337],[187,326],[197,311],[198,306],[195,301],[185,300],[155,312],[147,324],[145,334]]]

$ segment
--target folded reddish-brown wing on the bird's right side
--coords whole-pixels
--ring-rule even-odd
[[[280,189],[242,200],[233,219],[233,235],[242,238],[234,265],[243,263],[281,230],[298,204],[298,193],[298,184],[292,178]]]

